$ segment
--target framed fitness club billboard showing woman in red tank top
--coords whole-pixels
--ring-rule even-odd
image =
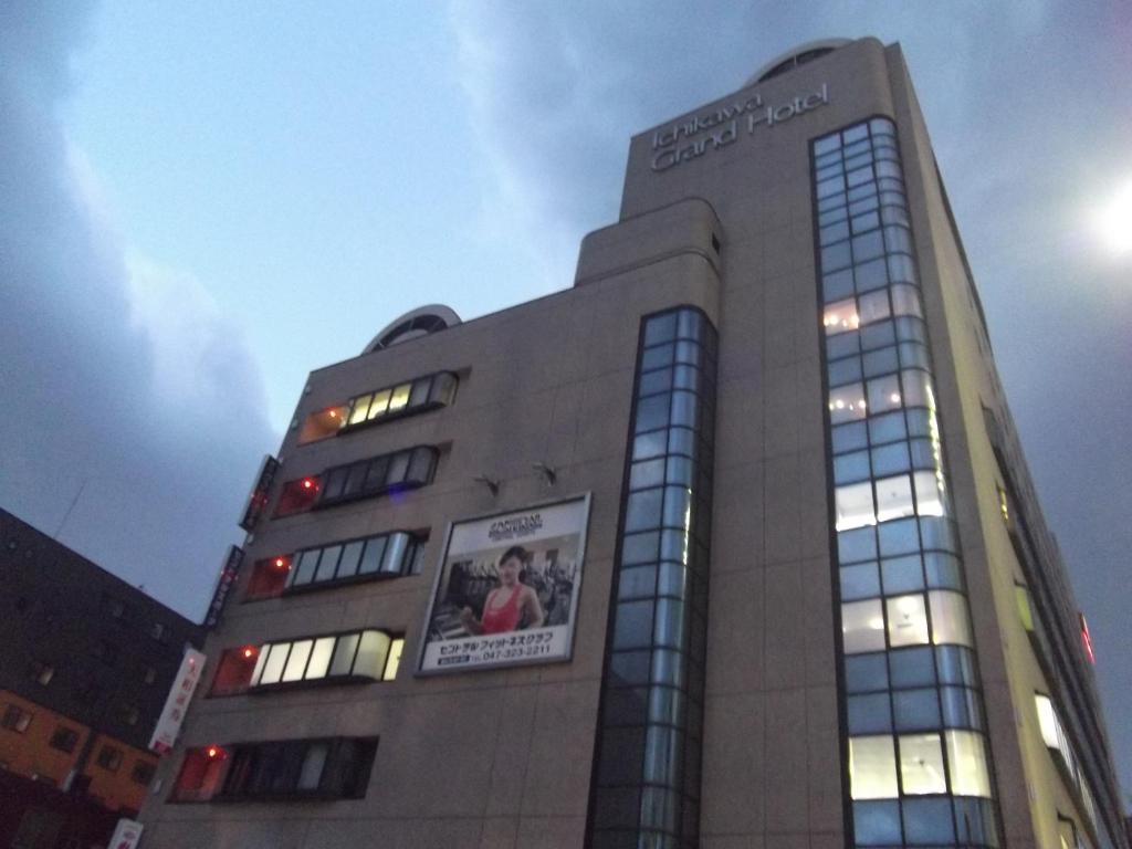
[[[569,660],[589,518],[586,494],[453,522],[418,671]]]

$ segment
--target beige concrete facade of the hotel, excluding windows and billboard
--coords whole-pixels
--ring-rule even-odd
[[[754,93],[772,114],[796,105],[773,126],[748,125],[764,114],[748,110],[735,119],[734,140],[658,162],[657,134]],[[268,512],[246,547],[249,567],[277,552],[412,530],[428,534],[423,568],[242,601],[246,567],[209,640],[209,663],[245,644],[375,627],[405,635],[401,670],[363,686],[198,697],[143,812],[148,846],[585,844],[640,327],[681,305],[719,332],[698,844],[852,846],[809,143],[874,115],[899,130],[1003,839],[1057,849],[1058,813],[1088,820],[1037,726],[1034,694],[1058,685],[1017,612],[1015,584],[1027,581],[1001,516],[984,406],[1007,422],[1009,413],[976,295],[899,48],[866,38],[634,137],[620,221],[586,237],[574,288],[311,375],[297,422],[439,370],[460,386],[448,406],[359,432],[299,445],[292,429],[273,498],[282,481],[413,445],[439,447],[435,479],[396,499],[282,518]],[[552,484],[534,463],[555,470]],[[1024,468],[1017,474],[1027,480]],[[573,660],[414,676],[447,523],[583,492],[592,508]],[[185,749],[335,736],[378,738],[365,798],[166,800]],[[1106,797],[1115,787],[1107,754],[1099,757],[1090,774],[1104,821],[1116,800]],[[1082,837],[1125,844],[1089,829]]]

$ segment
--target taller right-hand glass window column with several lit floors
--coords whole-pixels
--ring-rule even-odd
[[[998,844],[895,126],[816,139],[826,422],[858,847]]]

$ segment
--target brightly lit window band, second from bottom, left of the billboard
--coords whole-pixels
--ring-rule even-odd
[[[247,684],[268,687],[323,679],[391,680],[397,674],[403,645],[403,637],[381,631],[267,643],[258,651]]]

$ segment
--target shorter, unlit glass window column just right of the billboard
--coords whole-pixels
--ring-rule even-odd
[[[642,325],[588,844],[698,844],[715,329]]]

